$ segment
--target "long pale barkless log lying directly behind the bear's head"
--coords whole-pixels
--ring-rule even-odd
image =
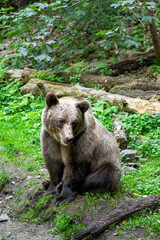
[[[21,94],[32,93],[33,95],[46,95],[47,92],[54,92],[58,97],[96,96],[96,99],[106,99],[111,106],[117,106],[119,110],[131,113],[160,113],[160,102],[156,99],[143,100],[130,98],[123,95],[112,94],[103,90],[81,87],[80,85],[69,85],[53,83],[39,79],[31,79],[21,90]]]

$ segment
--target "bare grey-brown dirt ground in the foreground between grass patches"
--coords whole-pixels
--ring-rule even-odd
[[[34,191],[28,189],[28,182],[30,179],[37,180],[41,184],[44,177],[35,176],[32,172],[29,175],[24,171],[22,167],[15,167],[8,163],[0,164],[0,168],[7,169],[7,173],[10,176],[5,188],[0,194],[0,216],[6,215],[7,219],[0,222],[0,239],[5,240],[61,240],[61,235],[53,235],[49,232],[51,221],[41,224],[29,223],[28,221],[20,221],[14,217],[14,207],[17,203],[17,192],[19,188],[23,188],[26,193],[24,196],[30,195],[30,198],[35,198]],[[47,171],[43,167],[40,169],[44,176],[47,176]],[[32,195],[33,194],[33,195]],[[76,200],[71,203],[67,209],[67,212],[72,212],[75,206],[80,206],[84,202],[83,196],[77,196]],[[88,206],[82,210],[83,223],[89,225],[100,220],[103,216],[111,212],[115,205],[123,202],[123,199],[116,197],[113,203],[110,200],[100,198],[98,203],[89,204],[90,212],[88,213]],[[52,204],[52,203],[50,203]],[[15,215],[16,216],[16,215]],[[145,228],[137,227],[132,230],[121,229],[122,224],[114,225],[112,228],[106,230],[98,238],[99,240],[158,240],[159,236],[155,233],[147,233]]]

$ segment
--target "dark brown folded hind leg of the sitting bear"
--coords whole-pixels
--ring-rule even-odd
[[[86,177],[81,192],[104,193],[118,190],[120,176],[120,170],[112,163],[102,163]]]

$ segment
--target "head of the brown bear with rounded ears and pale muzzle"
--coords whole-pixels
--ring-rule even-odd
[[[69,146],[86,129],[85,112],[90,104],[83,98],[58,99],[54,93],[46,96],[46,108],[42,114],[45,130],[63,146]]]

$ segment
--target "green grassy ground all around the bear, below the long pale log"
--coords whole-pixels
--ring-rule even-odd
[[[24,167],[34,175],[40,174],[40,167],[44,164],[41,156],[40,129],[41,112],[45,105],[43,97],[34,97],[30,94],[21,96],[19,90],[21,84],[16,80],[1,82],[0,90],[0,157],[2,162],[12,163],[15,166]],[[95,116],[112,131],[112,118],[118,114],[115,107],[110,107],[105,101],[99,101],[93,106]],[[151,114],[126,114],[123,122],[129,135],[129,148],[138,151],[138,171],[127,175],[122,174],[121,189],[113,197],[108,193],[103,195],[86,194],[83,197],[85,207],[98,205],[99,199],[107,199],[114,205],[115,199],[131,197],[144,197],[160,193],[160,117]],[[125,164],[122,162],[122,166]],[[1,170],[0,189],[9,176],[5,169]],[[36,185],[37,182],[32,185]],[[19,196],[23,193],[19,189]],[[23,220],[36,223],[45,221],[45,215],[59,211],[54,215],[52,233],[62,233],[67,239],[79,229],[84,227],[82,215],[76,210],[68,213],[68,205],[53,207],[47,210],[47,204],[51,201],[50,196],[38,199],[34,207],[26,208],[22,213]],[[72,204],[72,203],[71,203]],[[39,216],[41,210],[44,214]],[[81,207],[80,207],[81,209]],[[43,219],[44,217],[44,219]],[[121,224],[121,229],[145,227],[147,231],[160,232],[159,209],[146,209],[141,213],[134,214]]]

